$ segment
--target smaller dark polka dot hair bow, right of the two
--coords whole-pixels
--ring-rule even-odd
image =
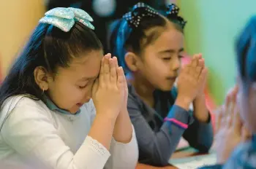
[[[170,20],[175,20],[182,28],[185,27],[187,21],[183,19],[183,17],[178,16],[179,8],[176,4],[167,5],[166,17]]]

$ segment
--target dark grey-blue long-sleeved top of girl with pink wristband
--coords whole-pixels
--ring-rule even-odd
[[[199,122],[193,117],[192,111],[174,105],[176,96],[175,87],[170,92],[156,90],[152,109],[140,99],[135,88],[129,85],[127,109],[138,140],[139,162],[154,166],[168,165],[181,136],[200,152],[208,152],[211,148],[214,137],[211,116],[208,122]],[[184,130],[173,123],[164,122],[165,117],[175,118],[189,127]]]

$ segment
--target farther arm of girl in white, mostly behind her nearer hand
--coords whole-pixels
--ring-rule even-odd
[[[113,60],[116,60],[116,58],[114,57]],[[116,119],[113,130],[113,141],[110,146],[110,153],[112,155],[106,164],[106,168],[134,169],[138,162],[138,144],[127,111],[128,88],[124,72],[119,72],[118,76],[123,76],[124,79],[124,103]]]

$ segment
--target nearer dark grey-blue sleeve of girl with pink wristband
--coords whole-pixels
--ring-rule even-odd
[[[152,130],[147,121],[153,114],[152,112],[143,112],[140,109],[140,103],[132,95],[128,97],[128,111],[132,120],[132,125],[135,127],[135,133],[140,148],[140,161],[149,165],[166,166],[169,165],[171,154],[176,150],[178,141],[180,140],[184,129],[170,122],[164,122],[159,130]],[[150,114],[148,117],[143,117],[143,114]],[[188,111],[179,106],[173,106],[170,110],[173,118],[181,122],[189,123],[191,119]]]

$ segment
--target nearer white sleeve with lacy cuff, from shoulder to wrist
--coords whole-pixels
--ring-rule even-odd
[[[98,141],[87,136],[73,154],[59,137],[53,122],[36,101],[16,105],[4,122],[1,137],[28,160],[39,167],[54,169],[102,169],[110,153]]]

